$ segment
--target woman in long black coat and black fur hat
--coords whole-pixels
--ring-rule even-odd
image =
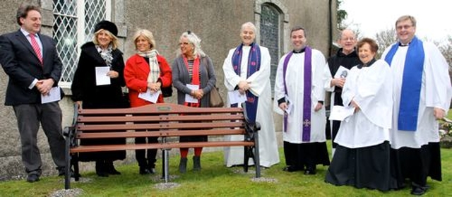
[[[104,109],[127,108],[129,103],[124,99],[121,87],[124,81],[124,59],[122,52],[117,49],[117,27],[114,23],[102,20],[95,25],[93,42],[87,42],[81,47],[78,67],[71,86],[72,100],[79,108]],[[110,83],[100,85],[96,83],[96,67],[106,67],[106,76]],[[125,144],[124,138],[85,139],[81,145]],[[83,162],[95,161],[96,174],[108,177],[108,174],[121,174],[114,169],[114,160],[124,160],[125,150],[105,151],[95,153],[80,153],[79,160]]]

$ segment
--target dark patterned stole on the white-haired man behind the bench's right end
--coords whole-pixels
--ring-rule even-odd
[[[240,65],[242,64],[242,50],[243,44],[240,44],[232,54],[232,67],[234,72],[240,76]],[[246,78],[253,75],[261,68],[261,48],[256,43],[251,44],[251,49],[248,55],[248,71],[246,72]],[[259,97],[253,95],[250,91],[246,91],[246,112],[248,112],[248,118],[251,122],[256,121],[257,105]],[[237,103],[231,105],[231,107],[237,107]]]

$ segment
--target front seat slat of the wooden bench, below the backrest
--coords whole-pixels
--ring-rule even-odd
[[[79,145],[71,148],[71,153],[88,153],[113,150],[138,150],[138,149],[170,149],[170,148],[195,148],[195,147],[225,147],[225,146],[251,146],[254,142],[246,141],[210,141],[188,143],[144,143],[121,145]]]

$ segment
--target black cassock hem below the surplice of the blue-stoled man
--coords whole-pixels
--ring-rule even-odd
[[[405,179],[426,186],[427,177],[441,181],[441,148],[439,143],[429,143],[421,148],[391,148],[391,173],[399,188]]]

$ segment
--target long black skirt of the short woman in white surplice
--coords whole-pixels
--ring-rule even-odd
[[[396,189],[396,180],[391,177],[388,141],[364,148],[336,147],[333,160],[326,172],[325,181],[337,186],[388,191]]]

